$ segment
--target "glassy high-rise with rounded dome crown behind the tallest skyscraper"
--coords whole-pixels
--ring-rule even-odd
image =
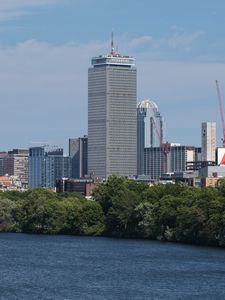
[[[144,174],[144,148],[160,147],[164,139],[163,118],[158,106],[143,100],[137,106],[137,175]]]

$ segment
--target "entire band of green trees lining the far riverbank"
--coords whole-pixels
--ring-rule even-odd
[[[138,238],[225,247],[225,181],[218,188],[148,186],[112,176],[95,200],[46,189],[0,192],[0,232]]]

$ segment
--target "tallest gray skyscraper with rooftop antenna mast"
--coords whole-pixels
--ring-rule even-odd
[[[100,178],[136,174],[135,60],[111,48],[88,70],[88,173]]]

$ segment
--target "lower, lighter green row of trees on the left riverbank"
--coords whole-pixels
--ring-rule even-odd
[[[0,194],[0,231],[99,235],[105,230],[99,203],[80,194],[46,189]]]

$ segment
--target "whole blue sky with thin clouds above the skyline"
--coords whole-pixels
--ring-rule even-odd
[[[216,121],[220,145],[224,11],[223,0],[1,0],[0,151],[38,141],[67,151],[68,138],[87,133],[87,69],[109,51],[112,29],[167,140],[200,145],[201,122]]]

